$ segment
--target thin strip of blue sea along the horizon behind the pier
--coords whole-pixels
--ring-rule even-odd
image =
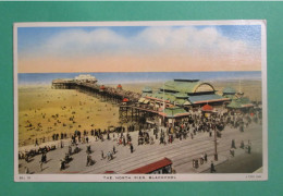
[[[103,72],[103,73],[19,73],[19,85],[51,84],[57,78],[74,78],[79,74],[90,74],[99,84],[125,84],[164,82],[174,78],[200,81],[261,79],[260,71],[253,72]]]

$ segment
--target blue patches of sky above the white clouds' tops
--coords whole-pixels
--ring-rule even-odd
[[[180,28],[184,26],[174,26]],[[260,25],[219,25],[219,26],[195,26],[198,29],[213,27],[224,37],[234,40],[243,40],[251,45],[260,46],[261,26]],[[17,30],[17,47],[19,51],[37,46],[52,36],[66,30],[82,29],[84,32],[91,32],[99,28],[108,28],[115,32],[123,37],[136,36],[143,32],[147,26],[86,26],[86,27],[20,27]]]

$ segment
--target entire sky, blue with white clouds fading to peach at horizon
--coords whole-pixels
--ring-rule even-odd
[[[21,73],[261,70],[261,25],[17,29]]]

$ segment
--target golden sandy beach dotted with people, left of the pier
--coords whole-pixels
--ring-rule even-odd
[[[51,89],[51,86],[20,86],[19,144],[36,138],[50,140],[53,134],[89,132],[119,125],[119,107],[75,89]],[[40,142],[40,140],[38,140]]]

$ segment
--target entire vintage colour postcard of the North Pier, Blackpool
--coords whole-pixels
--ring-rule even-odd
[[[16,182],[268,179],[266,21],[14,24]]]

